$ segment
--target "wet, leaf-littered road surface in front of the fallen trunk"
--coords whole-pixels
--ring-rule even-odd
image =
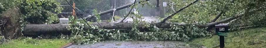
[[[189,48],[189,45],[179,41],[105,41],[67,48]]]

